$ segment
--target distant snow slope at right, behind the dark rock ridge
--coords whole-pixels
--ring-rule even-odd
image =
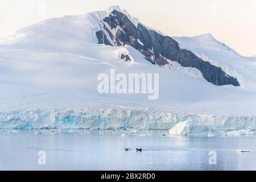
[[[237,78],[243,89],[256,89],[254,59],[239,55],[234,49],[214,39],[211,34],[174,39],[180,47],[192,51],[204,61],[221,67],[225,73]]]

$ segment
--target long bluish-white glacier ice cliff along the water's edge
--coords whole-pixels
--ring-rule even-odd
[[[256,117],[172,113],[152,109],[16,110],[0,112],[2,129],[140,129],[169,130],[181,125],[197,131],[254,131]],[[184,131],[184,127],[183,130]],[[195,130],[196,129],[196,130]],[[175,131],[176,132],[176,131]],[[179,132],[179,134],[182,132]],[[174,134],[174,132],[172,132]],[[178,133],[176,133],[178,134]],[[208,133],[207,133],[208,135]]]

